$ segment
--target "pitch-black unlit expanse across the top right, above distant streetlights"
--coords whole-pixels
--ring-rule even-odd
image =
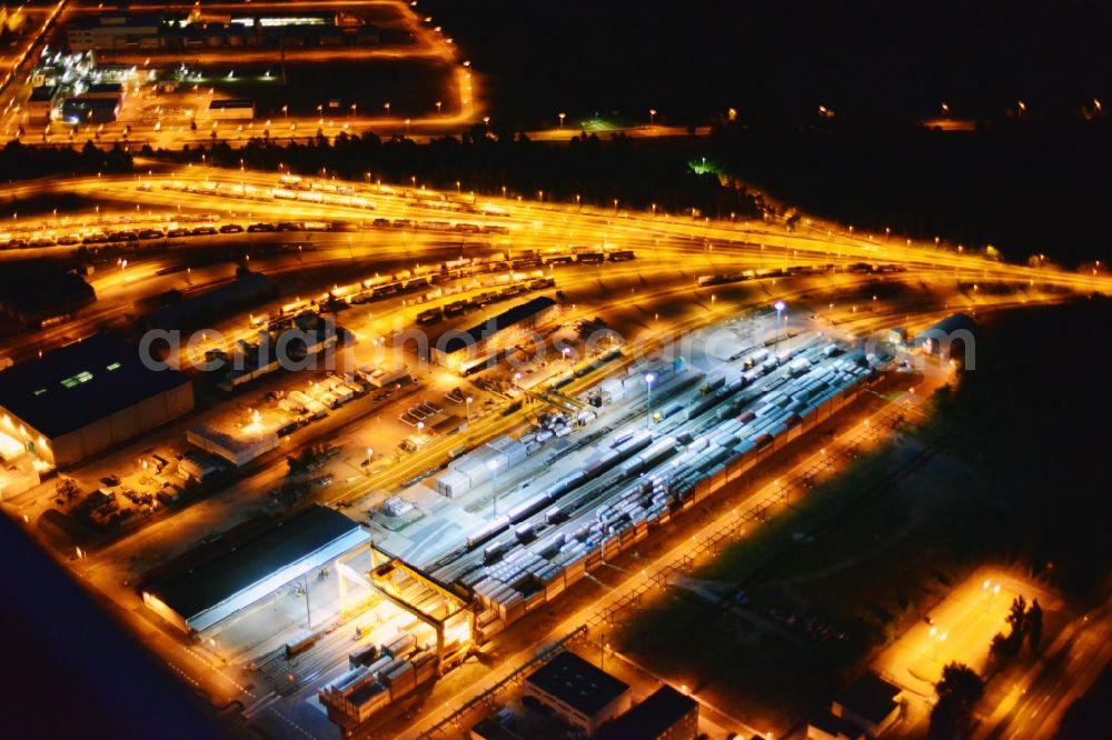
[[[502,114],[990,114],[1110,96],[1112,3],[428,0]]]

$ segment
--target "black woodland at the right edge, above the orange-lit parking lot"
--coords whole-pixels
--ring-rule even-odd
[[[1084,604],[1103,603],[1112,562],[1112,400],[1099,390],[1112,362],[1110,308],[1093,297],[994,318],[977,334],[976,370],[939,396],[955,453],[976,471],[954,552],[1027,568]],[[1030,361],[1043,340],[1069,359]]]

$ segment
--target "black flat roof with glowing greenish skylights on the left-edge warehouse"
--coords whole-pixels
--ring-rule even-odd
[[[0,372],[0,407],[53,438],[189,382],[177,370],[147,368],[138,348],[95,334]]]

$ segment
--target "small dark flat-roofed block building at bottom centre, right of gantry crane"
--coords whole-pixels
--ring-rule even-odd
[[[565,651],[525,679],[524,696],[593,737],[629,706],[629,684]]]

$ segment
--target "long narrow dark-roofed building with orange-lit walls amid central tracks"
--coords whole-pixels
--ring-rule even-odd
[[[429,349],[433,361],[466,372],[493,354],[513,347],[522,337],[559,314],[559,303],[547,296],[515,306],[466,331],[450,329]]]

